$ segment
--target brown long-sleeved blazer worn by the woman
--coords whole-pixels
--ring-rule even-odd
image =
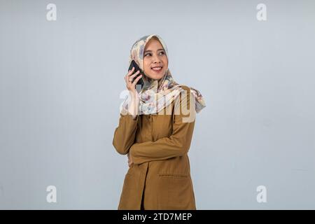
[[[167,106],[172,114],[120,113],[113,146],[122,155],[130,152],[134,165],[125,175],[118,209],[196,209],[190,178],[188,150],[195,126],[190,88]],[[193,103],[193,105],[195,105]],[[190,115],[184,115],[188,109]],[[176,111],[176,112],[175,112]],[[187,111],[186,111],[187,112]],[[194,113],[193,121],[183,122]]]

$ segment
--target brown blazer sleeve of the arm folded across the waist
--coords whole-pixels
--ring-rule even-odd
[[[195,105],[190,103],[193,102],[190,91],[184,92],[186,93],[179,95],[179,100],[174,106],[172,135],[157,141],[133,144],[130,148],[130,156],[134,164],[166,160],[188,153],[195,126]],[[184,113],[185,111],[188,113]]]

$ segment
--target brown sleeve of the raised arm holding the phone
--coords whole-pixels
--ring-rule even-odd
[[[123,115],[120,113],[119,125],[113,135],[113,146],[116,151],[122,155],[129,152],[130,147],[134,144],[134,138],[138,128],[139,115],[135,118],[130,114]]]

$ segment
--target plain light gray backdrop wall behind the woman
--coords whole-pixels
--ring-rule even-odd
[[[117,209],[119,95],[148,34],[207,103],[189,153],[197,209],[315,209],[315,3],[249,0],[1,0],[0,209]]]

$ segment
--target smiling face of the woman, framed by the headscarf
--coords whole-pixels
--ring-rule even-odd
[[[151,38],[144,48],[144,72],[149,78],[163,78],[168,68],[167,55],[160,41]]]

